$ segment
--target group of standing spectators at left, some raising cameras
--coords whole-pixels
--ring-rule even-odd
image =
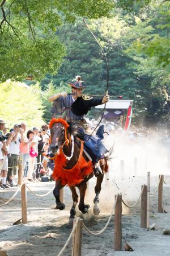
[[[21,122],[9,130],[0,119],[0,189],[16,185],[14,179],[19,165],[23,166],[23,182],[40,182],[41,176],[48,172],[48,149],[48,125],[27,130]]]

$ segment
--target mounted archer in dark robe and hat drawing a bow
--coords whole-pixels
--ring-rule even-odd
[[[102,98],[92,98],[83,95],[82,90],[86,88],[86,85],[81,80],[80,76],[76,76],[76,79],[69,82],[69,85],[71,86],[71,94],[61,92],[54,94],[53,96],[48,98],[49,101],[53,102],[51,109],[52,117],[55,118],[56,115],[63,116],[63,114],[65,113],[66,121],[78,126],[80,131],[84,134],[83,129],[87,128],[84,114],[87,114],[88,110],[90,110],[92,106],[98,106],[108,102],[109,96],[106,95]],[[94,157],[92,157],[95,166],[96,176],[102,174],[99,160],[105,152],[105,146],[103,145],[103,143],[101,143],[101,138],[103,138],[103,134],[101,134],[102,129],[103,127],[101,127],[101,129],[99,128],[99,138],[97,138],[97,142],[95,144],[95,146],[99,147],[97,148],[97,150],[99,151],[99,155],[97,157],[95,157],[95,155]],[[86,135],[84,138],[84,146],[86,146],[91,153],[94,152],[94,145],[91,143],[91,140],[89,140],[89,135]],[[92,138],[94,138],[94,136],[92,136]]]

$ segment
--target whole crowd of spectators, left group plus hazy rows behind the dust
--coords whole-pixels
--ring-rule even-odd
[[[98,121],[87,119],[91,129],[96,127]],[[167,149],[170,159],[170,133],[169,130],[140,129],[131,125],[129,131],[114,122],[103,120],[105,131],[112,134],[114,139],[121,138],[125,143],[144,143],[145,141],[157,141],[159,146]],[[93,127],[94,126],[94,127]],[[42,125],[41,129],[32,127],[27,129],[24,122],[15,123],[9,129],[6,122],[0,119],[0,189],[16,185],[14,177],[17,176],[19,165],[23,166],[23,182],[40,182],[42,177],[52,174],[54,164],[46,156],[49,153],[48,125]],[[170,163],[170,160],[169,160]]]

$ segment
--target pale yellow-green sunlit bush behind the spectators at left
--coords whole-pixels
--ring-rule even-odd
[[[8,127],[22,121],[30,128],[41,127],[42,109],[39,85],[27,86],[10,80],[0,84],[0,117]]]

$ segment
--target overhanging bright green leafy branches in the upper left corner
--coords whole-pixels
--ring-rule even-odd
[[[66,55],[57,28],[77,16],[108,16],[113,6],[111,0],[1,0],[0,81],[56,74]]]

